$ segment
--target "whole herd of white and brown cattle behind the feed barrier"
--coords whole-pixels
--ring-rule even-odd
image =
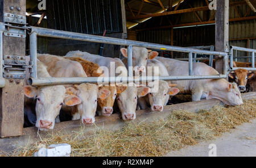
[[[121,53],[123,60],[80,51],[69,52],[65,57],[38,54],[37,74],[39,78],[109,77],[109,72],[114,67],[115,74],[110,74],[110,77],[127,77],[127,49],[122,48]],[[115,66],[111,66],[113,62]],[[188,62],[158,57],[158,52],[139,47],[133,47],[133,66],[135,72],[145,72],[148,67],[158,66],[160,76],[188,75],[189,72]],[[106,69],[101,69],[102,67]],[[207,64],[193,63],[193,75],[217,74]],[[123,120],[134,120],[135,112],[139,109],[151,107],[152,111],[163,111],[171,96],[178,93],[192,94],[192,101],[214,98],[231,106],[243,104],[240,90],[243,91],[247,79],[255,81],[255,74],[237,70],[229,77],[236,80],[238,86],[225,79],[158,81],[156,91],[152,91],[149,86],[98,86],[92,83],[25,86],[24,126],[35,125],[41,131],[53,129],[55,122],[59,121],[60,112],[72,116],[72,120],[81,119],[83,124],[93,124],[96,115],[112,115],[114,104],[117,104]],[[251,87],[255,90],[255,84]]]

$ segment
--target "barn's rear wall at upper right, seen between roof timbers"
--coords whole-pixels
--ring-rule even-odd
[[[241,1],[241,0],[233,0],[233,2]],[[185,1],[186,3],[186,1]],[[205,1],[187,1],[187,4],[191,3],[192,7],[200,7],[206,6]],[[181,6],[181,8],[184,6]],[[184,7],[185,9],[189,8],[189,6]],[[237,10],[240,13],[241,17],[246,16],[255,16],[256,14],[249,9],[247,5],[237,6]],[[249,12],[248,12],[249,11]],[[197,11],[197,14],[201,19],[209,20],[210,15],[213,11],[207,11],[207,18],[204,18],[204,11]],[[177,15],[171,15],[170,19],[172,23],[175,22]],[[238,14],[234,7],[230,7],[229,10],[229,18],[238,18]],[[145,27],[157,27],[160,23],[160,17],[152,18],[148,20],[148,23],[143,23],[141,26],[137,28],[145,28]],[[185,13],[180,16],[180,21],[177,24],[183,23],[193,23],[199,22],[199,19],[196,18],[196,15],[192,12]],[[168,21],[166,18],[163,18],[162,26],[168,25]],[[249,43],[250,48],[256,49],[255,41],[256,39],[250,39],[247,42],[247,38],[256,38],[256,19],[253,20],[242,20],[240,22],[230,22],[229,26],[229,39],[230,45],[236,45],[238,47],[247,47]],[[138,31],[137,32],[137,40],[146,41],[150,43],[159,43],[159,44],[171,44],[171,30],[163,29],[163,30],[147,30],[147,31]],[[189,47],[195,45],[214,45],[215,43],[215,26],[197,26],[197,27],[187,27],[187,28],[177,28],[174,29],[174,45]],[[238,55],[247,56],[245,52],[238,52]]]

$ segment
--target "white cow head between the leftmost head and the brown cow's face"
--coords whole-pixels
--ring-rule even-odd
[[[97,99],[106,99],[110,95],[108,89],[98,90],[97,85],[90,83],[82,83],[81,85],[68,88],[68,93],[77,95],[81,99],[81,103],[77,105],[77,111],[81,116],[83,124],[93,124],[97,110]]]

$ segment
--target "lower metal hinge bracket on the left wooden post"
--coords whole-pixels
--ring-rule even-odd
[[[3,57],[3,77],[4,78],[25,78],[26,69],[32,68],[28,65],[26,57],[16,55],[6,55]]]

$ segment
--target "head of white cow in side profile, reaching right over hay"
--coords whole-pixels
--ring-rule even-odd
[[[243,104],[241,93],[236,83],[230,83],[225,79],[212,80],[213,89],[209,91],[207,99],[219,99],[224,104],[237,106]]]

